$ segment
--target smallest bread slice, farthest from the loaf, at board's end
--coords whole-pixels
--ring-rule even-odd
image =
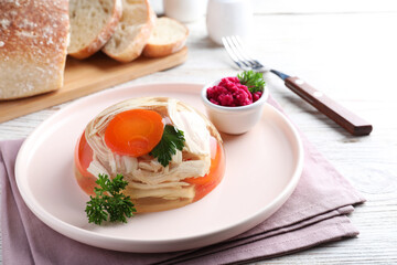
[[[189,30],[184,24],[170,18],[159,18],[143,49],[143,55],[161,57],[175,53],[185,45],[187,35]]]

